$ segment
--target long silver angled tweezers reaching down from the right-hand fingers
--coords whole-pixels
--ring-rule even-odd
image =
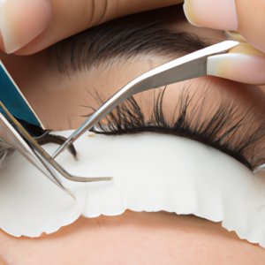
[[[80,125],[72,135],[64,141],[57,151],[52,155],[56,158],[65,148],[69,147],[80,135],[87,132],[103,117],[115,109],[118,104],[124,102],[127,98],[148,89],[163,87],[187,79],[194,79],[207,75],[207,58],[211,55],[226,52],[239,42],[226,41],[209,46],[205,49],[197,50],[184,57],[172,60],[169,63],[160,65],[151,71],[148,71],[140,77],[133,79],[125,87],[121,88],[109,101],[95,111],[93,115]]]

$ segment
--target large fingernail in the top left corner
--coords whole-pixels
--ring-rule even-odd
[[[49,25],[49,0],[2,0],[0,29],[6,53],[12,53],[34,40]]]

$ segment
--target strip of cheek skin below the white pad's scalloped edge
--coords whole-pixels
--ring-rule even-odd
[[[5,261],[20,265],[101,265],[106,261],[110,265],[207,265],[216,259],[222,264],[261,264],[265,258],[260,246],[246,243],[219,223],[165,212],[80,217],[39,239],[16,239],[0,232],[0,248]]]

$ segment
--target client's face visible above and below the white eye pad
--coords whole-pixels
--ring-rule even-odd
[[[124,50],[124,42],[121,46],[118,46],[120,43],[114,42],[113,47],[118,46],[121,51],[117,51],[117,54],[112,53],[112,57],[107,57],[105,61],[103,57],[109,50],[103,50],[102,57],[90,61],[89,65],[70,64],[69,53],[67,53],[68,42],[64,42],[64,46],[46,49],[29,57],[1,54],[1,60],[4,61],[11,76],[47,129],[53,131],[76,129],[102,102],[108,100],[129,81],[155,66],[188,52],[187,49],[181,49],[181,47],[189,47],[192,51],[201,49],[205,43],[213,44],[225,40],[221,31],[197,28],[188,24],[179,7],[149,13],[150,21],[155,21],[159,16],[166,17],[166,23],[162,27],[167,30],[162,35],[164,43],[159,42],[156,45],[155,41],[157,42],[157,40],[152,39],[153,46],[135,52],[133,56],[130,56],[128,51],[132,47],[129,46],[127,50]],[[140,17],[137,18],[140,19]],[[111,25],[111,27],[117,27],[117,25]],[[153,28],[152,30],[155,31],[152,32],[152,37],[155,33],[158,34],[157,28],[152,25],[149,25],[149,28]],[[138,28],[138,31],[140,30],[144,31],[145,29]],[[181,34],[172,36],[169,34],[169,30],[170,33],[185,32],[193,37],[181,37]],[[102,34],[102,32],[100,33]],[[92,30],[91,34],[95,35],[96,29],[95,32]],[[200,38],[200,42],[196,42],[193,34]],[[137,35],[137,38],[141,37],[142,42],[145,42],[145,36],[147,33]],[[97,42],[101,41],[97,40]],[[175,44],[170,45],[174,49],[166,46],[166,43],[170,41],[176,42],[176,46],[174,46]],[[149,42],[148,39],[145,42],[147,47]],[[134,47],[137,44],[139,42],[133,42]],[[79,42],[76,45],[79,46]],[[66,51],[62,47],[66,47]],[[58,57],[55,56],[55,50],[59,50]],[[125,56],[120,56],[123,51]],[[73,50],[72,54],[75,52],[76,50]],[[81,56],[76,60],[84,61]],[[172,84],[165,90],[164,87],[149,90],[134,96],[145,121],[152,117],[152,123],[158,124],[159,121],[155,120],[154,113],[157,107],[156,102],[161,99],[163,91],[163,117],[168,124],[173,118],[179,116],[180,110],[183,110],[184,107],[178,104],[181,98],[190,99],[189,105],[185,109],[188,116],[192,114],[195,117],[200,116],[203,121],[216,117],[216,111],[220,110],[222,103],[225,106],[224,110],[229,110],[233,105],[231,102],[238,102],[236,110],[239,115],[231,117],[231,119],[234,119],[233,123],[237,123],[241,118],[246,117],[244,124],[247,127],[242,125],[235,133],[236,137],[242,136],[243,131],[247,132],[244,135],[245,138],[250,137],[254,132],[262,133],[261,120],[264,117],[265,98],[261,87],[214,77],[202,77]],[[126,104],[125,107],[132,106],[130,102],[126,102]],[[203,109],[200,106],[203,106]],[[120,111],[125,111],[125,108]],[[133,111],[135,116],[135,108]],[[109,121],[103,120],[103,127],[115,124],[115,117],[117,117],[116,114],[113,114]],[[260,122],[251,124],[251,120]],[[194,120],[189,118],[188,122],[193,125]],[[128,127],[125,120],[122,120],[121,123],[126,128]],[[231,129],[229,126],[231,125],[220,128],[216,137],[220,138],[223,133],[227,133],[228,128]],[[137,129],[140,131],[139,128]],[[144,129],[145,132],[148,132],[149,128],[145,126]],[[130,130],[130,128],[126,130]],[[159,127],[159,130],[159,133],[180,134],[176,131],[173,132],[172,129],[165,132],[162,127]],[[123,134],[124,132],[117,132],[115,129],[112,133]],[[197,133],[200,134],[199,131]],[[193,139],[191,132],[186,132],[183,136]],[[220,145],[216,146],[215,138],[212,138],[212,141],[207,141],[203,135],[199,136],[196,135],[196,139],[204,144],[214,148],[221,147]],[[261,142],[262,139],[258,142],[260,147]],[[249,150],[253,146],[245,148],[246,151],[239,154],[240,145],[237,146],[234,142],[230,142],[230,144],[238,149],[236,151],[225,149],[223,146],[227,146],[227,143],[223,143],[221,148],[224,153],[231,155],[251,169],[258,163],[261,164],[259,157],[254,156]],[[91,251],[88,252],[87,249]],[[216,261],[216,257],[223,264],[230,264],[229,262],[231,264],[261,264],[265,258],[265,252],[260,246],[239,239],[235,233],[224,230],[220,223],[212,223],[195,216],[177,216],[166,212],[134,213],[125,211],[121,216],[99,216],[91,219],[80,217],[78,221],[60,231],[38,239],[25,237],[15,239],[1,232],[0,250],[3,264],[4,262],[9,264],[11,261],[13,264],[34,264],[35,261],[38,261],[39,264],[40,262],[47,264],[48,260],[49,263],[52,260],[55,263],[62,262],[64,264],[67,262],[69,264],[81,262],[101,264],[105,263],[106,257],[113,264],[130,264],[130,262],[134,264],[146,261],[149,261],[150,264],[161,264],[162,262],[176,264],[176,261],[187,264],[196,261],[212,264]]]

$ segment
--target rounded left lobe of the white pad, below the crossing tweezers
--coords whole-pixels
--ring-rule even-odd
[[[86,201],[86,186],[73,186],[76,200],[19,152],[4,160],[0,178],[0,228],[14,237],[40,237],[73,223]]]

